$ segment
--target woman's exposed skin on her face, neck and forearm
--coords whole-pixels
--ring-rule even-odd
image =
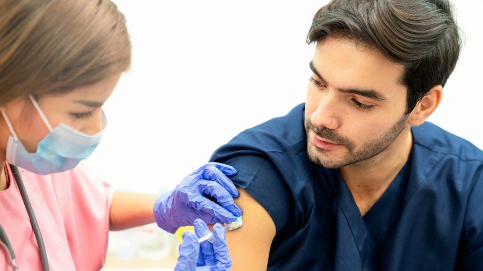
[[[37,102],[52,128],[64,123],[88,135],[102,129],[101,106],[110,97],[121,73],[95,84],[76,88],[68,93],[43,95]],[[89,101],[86,104],[78,101]],[[38,143],[49,133],[48,127],[35,110],[30,99],[18,98],[4,106],[13,129],[27,151],[37,151]],[[3,116],[0,120],[0,190],[7,188],[4,172],[8,137],[11,135]],[[114,192],[110,208],[110,229],[123,230],[154,222],[152,208],[157,195],[128,192]]]

